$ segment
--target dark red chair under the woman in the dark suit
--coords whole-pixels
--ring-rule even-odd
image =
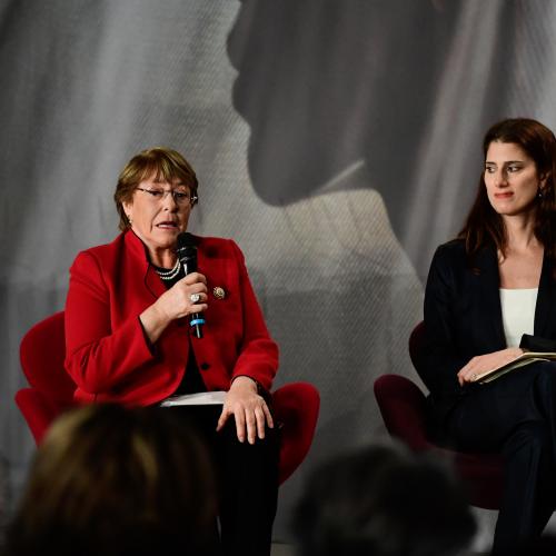
[[[409,338],[409,355],[419,369],[424,324]],[[498,454],[470,454],[443,448],[427,434],[426,398],[419,387],[399,375],[383,375],[375,381],[375,396],[388,433],[411,450],[434,451],[454,463],[465,481],[469,502],[485,509],[499,509],[502,499],[502,458]]]

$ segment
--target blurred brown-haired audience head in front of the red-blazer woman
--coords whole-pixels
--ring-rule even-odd
[[[50,428],[7,537],[9,555],[205,555],[216,490],[173,413],[91,405]]]

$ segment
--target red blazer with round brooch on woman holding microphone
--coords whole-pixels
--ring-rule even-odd
[[[255,297],[244,255],[229,239],[198,238],[198,268],[207,277],[203,337],[188,340],[187,318],[170,322],[150,346],[139,315],[166,291],[131,231],[80,252],[70,268],[66,302],[66,369],[78,401],[150,405],[180,384],[191,344],[208,390],[228,390],[240,375],[270,389],[278,347]],[[217,299],[214,288],[225,298]]]

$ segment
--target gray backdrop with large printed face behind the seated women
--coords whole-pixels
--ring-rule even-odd
[[[76,254],[117,234],[116,177],[167,145],[200,178],[191,230],[235,238],[278,385],[322,398],[280,492],[277,538],[315,461],[385,437],[384,373],[434,247],[475,192],[485,129],[556,123],[549,0],[0,0],[0,456],[11,507],[33,453],[13,404],[24,331],[63,307]]]

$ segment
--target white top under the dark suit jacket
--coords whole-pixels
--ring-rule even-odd
[[[538,288],[500,288],[502,324],[507,347],[517,347],[522,335],[533,334]]]

